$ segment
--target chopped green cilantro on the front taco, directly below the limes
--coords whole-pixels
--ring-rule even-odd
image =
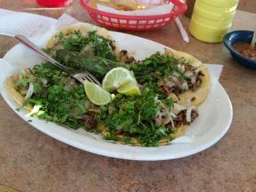
[[[143,146],[157,146],[161,138],[172,140],[172,131],[163,125],[155,125],[157,111],[161,109],[155,102],[156,94],[152,89],[145,88],[142,97],[118,96],[108,108],[104,108],[98,119],[108,127],[108,131],[115,135],[122,132],[125,137],[137,138]],[[172,99],[162,100],[171,104]],[[103,114],[103,115],[102,115]],[[106,115],[107,114],[107,115]],[[127,138],[125,139],[127,142]]]

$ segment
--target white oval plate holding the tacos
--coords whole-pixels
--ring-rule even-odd
[[[156,51],[164,51],[164,47],[166,47],[138,36],[118,32],[111,32],[111,34],[120,49],[133,52],[137,60],[142,60]],[[43,46],[45,42],[47,42],[47,38],[40,40],[37,44]],[[51,122],[46,123],[44,120],[27,118],[25,115],[28,111],[24,109],[20,111],[15,110],[19,106],[6,92],[4,81],[6,77],[20,71],[20,68],[17,67],[31,67],[36,64],[35,61],[39,62],[40,59],[34,52],[29,51],[24,46],[16,45],[4,56],[4,60],[0,60],[1,95],[20,118],[26,122],[31,119],[32,122],[28,122],[30,125],[56,140],[102,156],[143,161],[176,159],[190,156],[211,147],[219,141],[228,131],[232,122],[232,104],[230,99],[221,84],[218,83],[215,77],[211,76],[209,96],[204,104],[200,106],[200,116],[189,126],[184,138],[163,147],[132,147],[106,142],[102,140],[100,135],[83,131],[83,129],[71,131]]]

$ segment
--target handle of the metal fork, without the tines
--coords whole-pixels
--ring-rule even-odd
[[[68,70],[67,67],[65,67],[64,65],[61,65],[58,61],[54,60],[51,56],[49,56],[49,54],[46,54],[44,51],[42,51],[39,47],[37,47],[35,44],[33,44],[28,38],[26,38],[26,36],[24,36],[24,35],[15,35],[14,37],[20,43],[26,45],[27,47],[29,47],[33,51],[37,52],[45,60],[51,62],[52,64],[56,65],[56,67],[59,67],[62,70],[65,70],[66,72],[68,72],[70,74],[70,71]]]

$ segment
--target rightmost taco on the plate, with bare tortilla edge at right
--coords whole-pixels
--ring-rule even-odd
[[[141,86],[150,85],[184,106],[199,106],[209,93],[209,71],[185,52],[165,49],[129,66]]]

